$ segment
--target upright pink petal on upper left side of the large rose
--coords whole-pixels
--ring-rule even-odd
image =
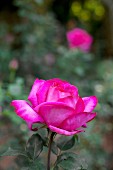
[[[40,87],[44,84],[44,82],[45,82],[44,80],[36,79],[32,86],[31,92],[28,96],[28,100],[32,103],[34,107],[38,105],[36,94],[38,93]]]

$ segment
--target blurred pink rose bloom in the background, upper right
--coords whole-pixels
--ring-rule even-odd
[[[88,52],[93,42],[92,36],[81,28],[67,32],[67,40],[70,48],[79,48],[83,52]]]

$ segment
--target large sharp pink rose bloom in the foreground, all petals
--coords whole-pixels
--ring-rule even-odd
[[[95,96],[81,98],[76,86],[58,78],[36,79],[25,100],[13,100],[15,112],[25,120],[31,130],[34,123],[46,125],[51,131],[63,135],[83,132],[82,127],[95,118]]]

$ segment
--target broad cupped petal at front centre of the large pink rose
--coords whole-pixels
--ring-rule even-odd
[[[43,117],[48,126],[52,125],[56,127],[75,113],[73,108],[60,102],[45,102],[34,109]]]

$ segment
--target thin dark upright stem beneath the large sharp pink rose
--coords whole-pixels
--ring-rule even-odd
[[[48,145],[48,159],[47,159],[47,170],[50,170],[50,157],[51,157],[51,147],[53,142],[54,132],[51,133]]]

